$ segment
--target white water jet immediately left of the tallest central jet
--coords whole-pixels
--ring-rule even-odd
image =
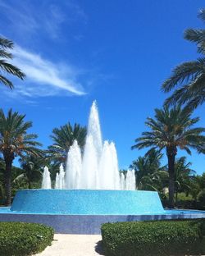
[[[67,153],[65,188],[71,189],[71,190],[83,188],[81,175],[82,175],[81,152],[80,152],[80,147],[78,145],[78,142],[77,140],[75,140],[70,150]]]

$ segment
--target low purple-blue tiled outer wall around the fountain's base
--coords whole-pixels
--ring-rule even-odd
[[[165,219],[201,218],[205,213],[162,215],[46,215],[0,213],[0,222],[35,222],[52,226],[59,234],[100,234],[107,222],[133,222]]]

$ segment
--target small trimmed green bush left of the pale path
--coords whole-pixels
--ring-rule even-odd
[[[0,255],[37,254],[53,240],[53,229],[36,223],[0,222]]]

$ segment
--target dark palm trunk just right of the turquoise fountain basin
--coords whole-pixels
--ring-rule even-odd
[[[175,155],[176,149],[166,149],[168,158],[168,172],[169,172],[169,208],[174,208],[175,201]]]

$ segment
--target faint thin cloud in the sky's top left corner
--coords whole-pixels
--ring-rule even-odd
[[[87,22],[84,10],[72,0],[51,1],[0,0],[0,14],[14,33],[26,35],[45,33],[52,39],[61,34],[62,25]],[[59,4],[61,3],[61,4]],[[1,25],[3,27],[4,24]]]

